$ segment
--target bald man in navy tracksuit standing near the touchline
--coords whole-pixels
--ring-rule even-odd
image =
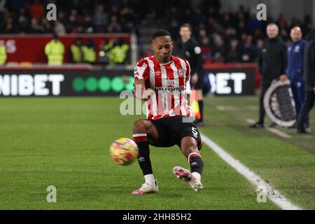
[[[302,30],[300,27],[293,27],[290,32],[290,37],[292,43],[288,46],[288,67],[286,74],[290,80],[297,119],[305,98],[303,56],[307,41],[302,39]],[[309,126],[309,118],[305,118],[305,125],[306,127]],[[296,123],[293,127],[296,127]]]

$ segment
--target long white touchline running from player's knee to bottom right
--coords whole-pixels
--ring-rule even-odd
[[[218,156],[227,162],[228,165],[236,169],[239,174],[245,176],[246,179],[248,179],[248,181],[253,183],[255,186],[265,189],[267,191],[267,197],[269,197],[269,199],[272,200],[274,204],[278,205],[283,210],[302,210],[300,207],[295,206],[292,202],[287,200],[286,197],[281,195],[278,190],[272,188],[272,186],[270,186],[265,180],[261,179],[260,176],[256,175],[254,172],[251,172],[250,169],[245,167],[238,160],[235,160],[232,155],[224,151],[224,149],[218,146],[214,141],[206,137],[204,134],[201,134],[201,137],[202,142],[212,148],[212,150],[218,154]]]

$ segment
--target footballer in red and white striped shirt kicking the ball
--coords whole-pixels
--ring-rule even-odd
[[[193,190],[202,189],[204,163],[199,153],[202,139],[193,123],[194,115],[186,94],[190,65],[186,59],[172,55],[173,48],[169,32],[156,31],[151,43],[154,55],[141,59],[134,69],[135,95],[147,104],[146,119],[137,120],[132,127],[133,139],[139,148],[137,160],[145,179],[145,183],[132,192],[134,195],[159,191],[153,176],[149,145],[179,146],[191,172],[176,166],[174,174]]]

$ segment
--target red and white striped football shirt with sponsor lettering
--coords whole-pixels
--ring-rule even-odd
[[[144,79],[146,89],[155,91],[155,97],[146,102],[146,118],[192,117],[186,94],[189,76],[190,65],[186,59],[172,56],[167,64],[160,64],[155,56],[141,59],[134,69],[134,80]]]

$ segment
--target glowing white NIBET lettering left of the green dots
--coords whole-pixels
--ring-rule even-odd
[[[47,96],[60,94],[60,83],[64,80],[62,74],[29,74],[0,75],[0,95],[3,96]],[[51,83],[50,89],[46,83]]]

